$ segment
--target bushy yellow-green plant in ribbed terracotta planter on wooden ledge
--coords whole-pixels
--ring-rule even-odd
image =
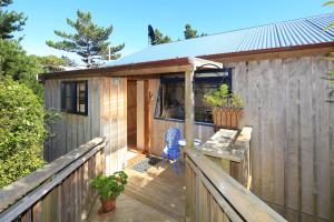
[[[218,90],[210,91],[204,95],[204,100],[213,107],[214,124],[218,128],[237,129],[238,120],[242,118],[244,101],[232,92],[228,85],[222,84]]]

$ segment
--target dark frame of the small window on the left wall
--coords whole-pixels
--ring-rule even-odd
[[[78,85],[80,84],[85,84],[85,103],[80,103],[80,92],[82,93],[82,91],[78,92]],[[67,93],[67,85],[70,84],[70,90],[71,90],[71,109],[67,109],[66,108],[66,102],[67,102],[67,98],[68,98],[68,93]],[[61,112],[66,112],[66,113],[70,113],[70,114],[78,114],[78,115],[88,115],[88,80],[71,80],[71,81],[62,81],[60,83],[60,104],[61,104]],[[78,101],[79,99],[79,101]],[[78,110],[78,102],[79,105],[80,104],[85,104],[85,111],[80,111],[80,109]]]

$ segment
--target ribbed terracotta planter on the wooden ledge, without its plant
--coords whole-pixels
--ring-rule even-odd
[[[240,108],[215,108],[213,110],[214,124],[217,128],[237,129],[242,115],[243,109]]]

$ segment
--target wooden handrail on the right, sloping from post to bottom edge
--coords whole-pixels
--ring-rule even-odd
[[[186,150],[186,153],[189,158],[188,161],[190,161],[200,171],[200,173],[208,179],[210,185],[215,189],[215,191],[217,191],[213,192],[212,195],[216,200],[223,198],[225,200],[224,202],[228,202],[229,206],[235,209],[237,214],[244,221],[286,222],[283,216],[276,213],[250,191],[245,189],[203,153],[195,149],[188,149]],[[217,203],[222,209],[226,209],[226,205],[222,205],[219,201],[217,201]],[[226,213],[228,214],[228,211]],[[232,216],[234,216],[233,214]]]

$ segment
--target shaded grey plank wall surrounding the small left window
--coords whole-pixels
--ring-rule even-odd
[[[87,78],[88,80],[88,117],[61,112],[61,119],[51,127],[55,137],[45,147],[45,158],[48,162],[68,153],[85,142],[100,137],[100,79]],[[46,109],[60,112],[62,81],[47,80],[45,82]]]

